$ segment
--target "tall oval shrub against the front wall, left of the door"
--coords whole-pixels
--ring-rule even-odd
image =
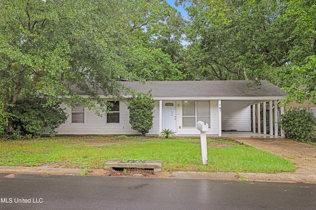
[[[153,126],[154,107],[151,91],[133,95],[127,105],[132,129],[145,136]]]

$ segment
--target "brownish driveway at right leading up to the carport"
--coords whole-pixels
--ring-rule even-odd
[[[294,174],[316,174],[316,146],[314,145],[280,138],[234,139],[290,160],[298,167]]]

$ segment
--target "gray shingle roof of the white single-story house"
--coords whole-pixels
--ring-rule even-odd
[[[227,81],[122,81],[126,87],[137,92],[147,93],[152,89],[154,98],[165,97],[283,97],[286,95],[281,89],[265,80],[260,86],[246,87],[245,80]]]

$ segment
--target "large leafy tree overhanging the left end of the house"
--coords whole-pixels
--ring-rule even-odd
[[[0,3],[0,96],[10,112],[20,97],[40,93],[47,105],[72,101],[105,110],[99,89],[122,93],[119,76],[132,42],[121,0],[6,0]],[[79,95],[74,87],[80,90]],[[81,95],[88,96],[87,98]],[[99,105],[93,103],[96,101]],[[13,121],[9,118],[7,131]]]

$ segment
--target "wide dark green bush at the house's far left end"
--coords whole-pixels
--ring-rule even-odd
[[[32,97],[19,100],[11,108],[13,135],[11,138],[39,138],[42,134],[54,136],[55,128],[65,123],[67,115],[60,104],[46,105],[47,99]]]

